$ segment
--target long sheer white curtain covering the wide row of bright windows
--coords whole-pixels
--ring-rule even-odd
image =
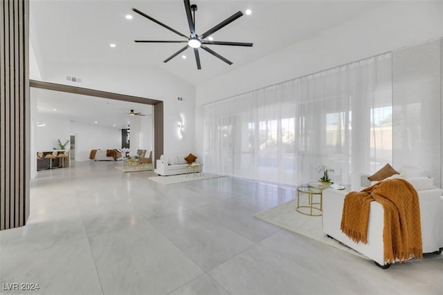
[[[358,187],[392,162],[391,88],[386,54],[206,104],[206,169],[298,185],[325,164]]]

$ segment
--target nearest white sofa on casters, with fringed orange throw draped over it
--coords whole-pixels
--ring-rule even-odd
[[[443,249],[442,189],[436,187],[421,189],[424,187],[419,185],[416,187],[412,180],[410,182],[417,189],[419,196],[423,253],[439,254]],[[368,243],[356,243],[340,229],[346,194],[346,191],[335,189],[323,191],[323,232],[374,260],[379,267],[388,268],[390,265],[383,259],[383,207],[378,202],[371,202]]]

